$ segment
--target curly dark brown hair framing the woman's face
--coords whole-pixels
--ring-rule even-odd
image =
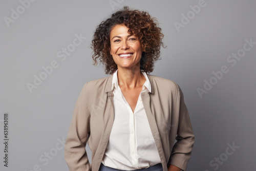
[[[117,70],[117,65],[110,54],[110,32],[116,25],[125,25],[129,28],[128,33],[139,38],[143,49],[140,69],[146,73],[153,72],[154,62],[161,59],[160,47],[163,46],[164,35],[155,17],[151,17],[146,11],[130,10],[127,6],[98,25],[91,44],[94,51],[93,65],[97,65],[97,58],[100,57],[100,62],[105,65],[106,74],[113,74]]]

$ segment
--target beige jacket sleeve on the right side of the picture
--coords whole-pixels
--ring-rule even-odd
[[[173,164],[182,170],[186,170],[187,163],[194,146],[195,135],[192,129],[187,107],[184,103],[183,93],[179,86],[177,108],[177,111],[179,111],[178,130],[176,136],[177,141],[174,144],[172,153],[170,155],[170,164]]]

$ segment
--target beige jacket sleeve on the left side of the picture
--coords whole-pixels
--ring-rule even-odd
[[[90,132],[88,97],[86,97],[87,83],[84,84],[75,103],[73,117],[65,142],[65,161],[70,171],[87,171],[90,168],[85,148]]]

